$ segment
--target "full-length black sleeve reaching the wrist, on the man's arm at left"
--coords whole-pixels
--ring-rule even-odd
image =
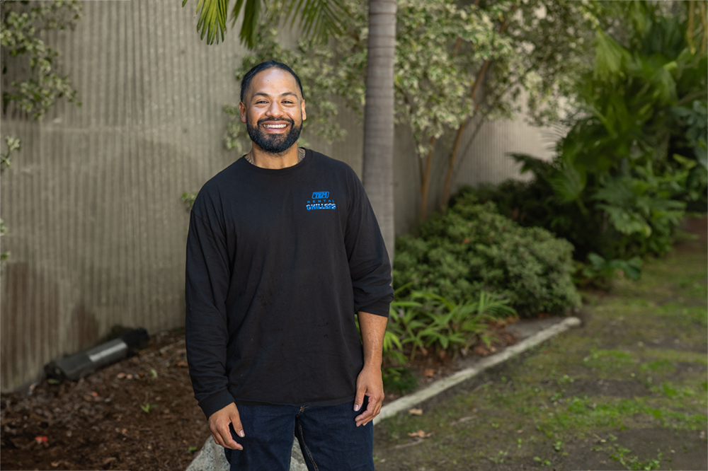
[[[204,414],[234,402],[227,389],[226,298],[229,262],[224,232],[214,216],[190,214],[186,259],[185,341],[194,397]]]

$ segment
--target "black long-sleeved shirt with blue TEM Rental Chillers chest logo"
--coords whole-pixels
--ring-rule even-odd
[[[190,214],[186,346],[209,417],[236,404],[337,405],[363,366],[358,311],[387,316],[391,267],[354,171],[307,149],[259,168],[241,158]]]

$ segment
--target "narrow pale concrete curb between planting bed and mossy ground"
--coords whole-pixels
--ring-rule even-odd
[[[389,402],[389,404],[384,405],[384,407],[381,408],[381,412],[379,412],[379,415],[374,419],[374,424],[378,424],[380,421],[388,419],[399,412],[411,409],[411,407],[420,404],[426,399],[430,399],[430,397],[440,394],[440,392],[444,390],[452,388],[454,385],[462,383],[464,380],[474,378],[474,376],[477,376],[479,373],[486,370],[486,368],[491,368],[492,366],[498,365],[515,355],[523,353],[531,347],[535,347],[536,345],[545,342],[551,337],[559,335],[561,332],[569,330],[571,327],[578,327],[580,324],[581,321],[578,318],[564,319],[556,325],[548,327],[547,329],[523,339],[518,344],[507,347],[496,355],[487,356],[486,358],[477,361],[474,366],[465,368],[462,371],[457,371],[457,373],[447,378],[435,381],[435,383],[428,386],[428,388],[413,392],[412,394],[396,399],[393,402]]]

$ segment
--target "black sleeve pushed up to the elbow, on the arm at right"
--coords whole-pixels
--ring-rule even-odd
[[[350,209],[344,242],[354,291],[355,312],[388,317],[393,301],[391,263],[364,187],[350,172]]]

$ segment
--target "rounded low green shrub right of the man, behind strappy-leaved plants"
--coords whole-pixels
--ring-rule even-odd
[[[561,314],[578,306],[573,246],[542,228],[523,228],[491,204],[462,194],[419,236],[396,240],[394,286],[429,290],[454,302],[491,291],[520,315]]]

